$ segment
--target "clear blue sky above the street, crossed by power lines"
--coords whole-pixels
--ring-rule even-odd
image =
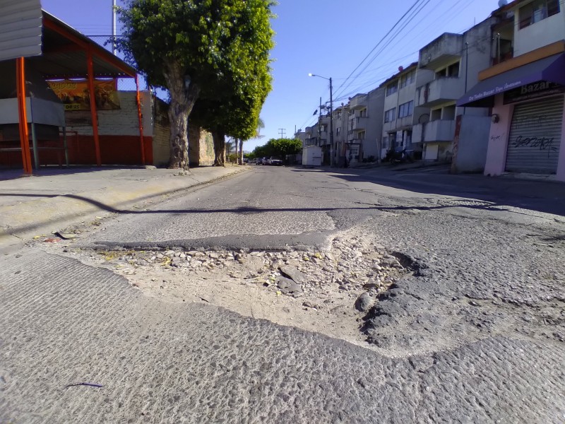
[[[85,35],[111,33],[112,0],[41,1],[46,11]],[[393,30],[395,36],[387,37],[352,73],[416,0],[279,0],[273,20],[273,91],[261,112],[264,138],[246,141],[244,149],[251,151],[279,137],[280,129],[292,136],[295,128],[315,122],[312,113],[320,97],[322,102],[329,100],[329,84],[308,73],[332,77],[334,106],[340,105],[379,86],[399,66],[416,61],[417,51],[442,33],[467,30],[498,8],[497,0],[418,1],[414,13],[405,18],[411,21],[399,25],[398,33]]]

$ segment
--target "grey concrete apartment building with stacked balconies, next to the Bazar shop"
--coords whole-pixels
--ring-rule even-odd
[[[456,102],[468,87],[477,83],[479,71],[490,65],[493,19],[484,20],[463,34],[444,33],[420,49],[419,69],[433,72],[432,81],[418,86],[415,97],[415,107],[429,108],[429,114],[422,115],[412,129],[412,142],[422,143],[424,160],[452,158],[456,117],[459,115],[470,115],[465,122],[459,123],[459,136],[470,134],[467,126],[475,131],[482,126],[483,134],[489,131],[489,120],[484,119],[489,114],[488,109],[457,107]],[[476,132],[474,136],[477,136]],[[486,156],[486,143],[482,144],[477,146],[475,141],[474,146],[479,167],[484,165]]]

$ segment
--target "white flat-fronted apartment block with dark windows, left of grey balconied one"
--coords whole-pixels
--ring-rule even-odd
[[[416,88],[432,81],[434,72],[418,69],[417,62],[384,81],[383,129],[380,143],[381,158],[391,148],[422,151],[420,140],[412,139],[412,127],[428,119],[428,107],[416,106]]]

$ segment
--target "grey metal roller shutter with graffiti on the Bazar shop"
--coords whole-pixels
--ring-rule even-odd
[[[557,172],[563,103],[561,95],[516,105],[510,125],[507,172]]]

